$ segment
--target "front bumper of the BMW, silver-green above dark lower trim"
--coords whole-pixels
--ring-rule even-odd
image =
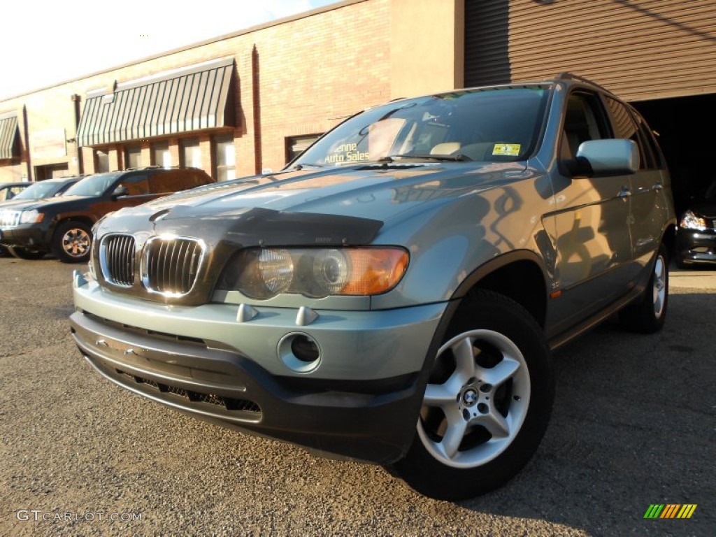
[[[415,435],[425,359],[447,304],[390,311],[296,311],[166,306],[118,296],[75,278],[72,334],[116,384],[218,425],[304,446],[319,455],[387,464]],[[319,365],[281,359],[286,334],[319,345]]]

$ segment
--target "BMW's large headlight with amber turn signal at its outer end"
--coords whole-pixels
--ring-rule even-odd
[[[251,248],[233,258],[218,287],[259,300],[281,293],[369,296],[393,289],[407,263],[402,248]]]

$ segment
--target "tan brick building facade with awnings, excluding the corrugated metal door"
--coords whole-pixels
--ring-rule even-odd
[[[462,85],[460,2],[412,4],[342,1],[1,101],[0,182],[142,165],[196,165],[220,180],[278,170],[342,118],[407,87]],[[437,24],[435,43],[391,46],[408,12]],[[413,54],[429,72],[407,68]]]

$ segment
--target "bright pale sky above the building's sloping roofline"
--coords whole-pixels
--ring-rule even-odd
[[[0,100],[337,1],[12,1],[2,9]]]

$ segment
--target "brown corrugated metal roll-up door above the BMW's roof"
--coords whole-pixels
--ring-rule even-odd
[[[574,72],[626,100],[716,93],[716,0],[465,0],[465,85]]]

